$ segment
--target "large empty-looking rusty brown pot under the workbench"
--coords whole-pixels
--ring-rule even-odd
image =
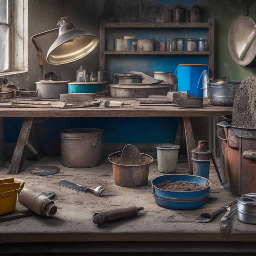
[[[60,134],[63,166],[89,168],[102,164],[102,129],[74,128],[62,130]]]

